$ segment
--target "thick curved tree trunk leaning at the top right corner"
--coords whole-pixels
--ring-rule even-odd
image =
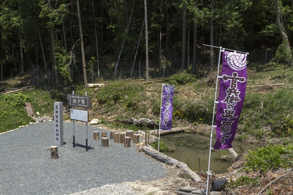
[[[291,53],[291,48],[290,48],[290,43],[288,40],[288,35],[286,32],[286,29],[284,27],[284,24],[282,22],[282,11],[280,9],[280,4],[279,4],[279,0],[274,0],[274,5],[276,8],[276,21],[277,21],[277,25],[281,34],[281,37],[283,39],[283,43],[286,45],[286,48],[288,50],[288,55],[289,55],[289,66],[291,67],[292,63],[293,63],[293,59],[292,59],[292,53]]]

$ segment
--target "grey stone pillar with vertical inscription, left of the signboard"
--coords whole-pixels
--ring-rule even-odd
[[[63,102],[54,102],[55,145],[63,145]]]

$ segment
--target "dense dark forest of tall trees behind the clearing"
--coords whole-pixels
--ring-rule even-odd
[[[203,44],[277,48],[274,60],[291,66],[292,32],[293,0],[1,0],[0,79],[37,67],[48,86],[73,74],[86,86],[100,67],[138,59],[146,80],[148,61],[197,74],[199,60],[217,63],[217,49]]]

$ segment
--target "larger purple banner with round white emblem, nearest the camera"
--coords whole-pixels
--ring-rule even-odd
[[[214,149],[232,148],[246,91],[247,54],[223,52]]]

